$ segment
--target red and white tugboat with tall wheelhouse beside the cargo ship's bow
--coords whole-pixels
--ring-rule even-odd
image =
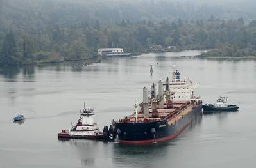
[[[99,131],[97,123],[94,123],[92,107],[83,107],[80,111],[80,118],[76,126],[72,126],[71,130],[62,130],[58,134],[58,138],[65,139],[103,139],[103,133]]]

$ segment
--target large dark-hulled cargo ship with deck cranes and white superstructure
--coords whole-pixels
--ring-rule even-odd
[[[194,119],[201,115],[202,101],[194,96],[194,84],[190,79],[180,80],[180,72],[173,70],[166,82],[158,82],[143,88],[143,102],[135,103],[132,115],[113,121],[114,137],[121,143],[147,144],[163,142],[179,135]],[[165,88],[165,89],[164,89]],[[138,107],[141,107],[138,110]]]

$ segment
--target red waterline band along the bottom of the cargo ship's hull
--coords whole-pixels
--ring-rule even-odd
[[[192,120],[191,120],[192,121]],[[191,121],[189,121],[189,123],[191,123]],[[163,138],[158,138],[158,139],[147,139],[147,140],[139,140],[139,141],[126,141],[126,140],[119,140],[119,142],[124,143],[124,144],[151,144],[154,142],[164,142],[164,141],[169,141],[173,138],[175,138],[176,136],[178,136],[183,130],[185,130],[185,128],[189,125],[189,123],[187,123],[185,126],[183,126],[178,132],[176,132],[175,134],[169,135],[167,137],[163,137]]]

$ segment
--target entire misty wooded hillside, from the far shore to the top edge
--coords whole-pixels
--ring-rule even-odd
[[[210,56],[254,56],[253,4],[249,0],[1,0],[0,63],[83,59],[96,56],[98,47],[145,52],[152,44],[217,48]]]

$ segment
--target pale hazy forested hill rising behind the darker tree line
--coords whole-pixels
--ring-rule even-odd
[[[28,29],[36,31],[47,26],[74,26],[122,20],[160,22],[207,20],[210,15],[220,19],[243,17],[256,19],[253,0],[1,0],[0,30]]]

